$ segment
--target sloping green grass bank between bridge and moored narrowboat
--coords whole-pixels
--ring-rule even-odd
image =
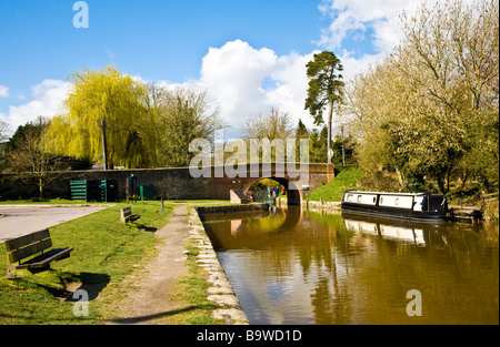
[[[364,171],[362,169],[344,169],[330,183],[312,191],[306,200],[340,202],[347,190],[356,188],[356,183],[363,174]]]

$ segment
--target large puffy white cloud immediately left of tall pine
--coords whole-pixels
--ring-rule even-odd
[[[243,121],[263,114],[272,106],[289,112],[292,125],[299,118],[312,126],[303,110],[308,80],[306,64],[312,53],[278,57],[268,48],[254,49],[241,40],[210,48],[203,58],[198,81],[219,103],[221,116],[238,135]]]

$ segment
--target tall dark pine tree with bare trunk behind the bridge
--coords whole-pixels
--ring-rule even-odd
[[[331,127],[333,116],[333,105],[342,101],[343,71],[340,59],[329,51],[314,54],[314,59],[307,63],[307,75],[309,79],[308,98],[306,99],[306,110],[309,110],[314,118],[314,124],[323,123],[323,109],[328,105],[328,163],[331,164]]]

